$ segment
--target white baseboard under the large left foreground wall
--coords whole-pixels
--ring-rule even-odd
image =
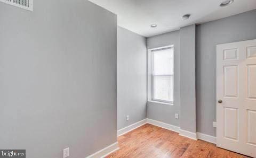
[[[90,155],[90,156],[87,156],[86,158],[101,158],[101,157],[106,157],[107,155],[115,152],[119,150],[119,147],[118,147],[118,142],[114,143],[114,144],[111,144],[105,148],[103,148],[102,150]]]

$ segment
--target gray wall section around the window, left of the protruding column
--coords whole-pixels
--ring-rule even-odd
[[[180,113],[180,35],[179,31],[161,34],[147,39],[148,49],[174,45],[174,106],[148,102],[147,117],[179,126],[175,113]]]

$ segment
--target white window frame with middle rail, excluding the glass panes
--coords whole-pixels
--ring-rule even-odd
[[[148,100],[153,101],[153,102],[163,102],[163,103],[168,103],[168,104],[173,105],[173,103],[174,103],[173,101],[161,100],[161,99],[154,98],[154,76],[173,76],[173,82],[174,82],[174,72],[173,72],[173,74],[154,75],[154,51],[165,50],[165,49],[173,49],[173,51],[174,51],[174,46],[171,45],[171,46],[158,47],[158,48],[148,50],[148,57],[149,57],[148,58],[148,79],[150,79],[150,80],[148,80],[148,90],[150,91],[148,93],[148,95],[149,95]],[[173,54],[173,57],[174,57],[174,54]],[[174,62],[173,62],[173,67],[174,67]],[[173,94],[174,94],[174,89],[173,89]]]

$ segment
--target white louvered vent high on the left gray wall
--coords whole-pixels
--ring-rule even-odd
[[[33,11],[33,0],[0,0],[0,2]]]

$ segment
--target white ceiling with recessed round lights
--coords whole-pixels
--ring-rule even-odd
[[[200,24],[254,10],[256,0],[235,0],[220,7],[225,0],[89,0],[117,14],[117,24],[145,37],[178,30],[189,24]],[[191,14],[183,21],[184,14]],[[150,25],[156,23],[157,28]]]

